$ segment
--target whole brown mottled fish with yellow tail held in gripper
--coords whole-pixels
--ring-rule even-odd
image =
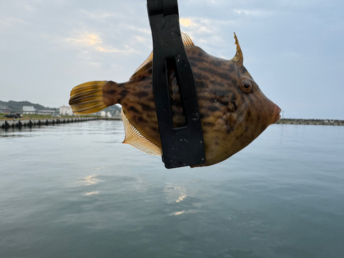
[[[182,32],[186,55],[195,78],[206,161],[217,164],[244,149],[281,117],[244,67],[244,57],[234,33],[236,53],[226,60],[211,56]],[[153,52],[125,83],[96,80],[72,89],[69,105],[75,114],[92,114],[111,105],[122,105],[123,143],[151,155],[162,155],[158,118],[152,88]],[[178,82],[167,67],[173,127],[186,126]],[[192,166],[194,167],[194,166]]]

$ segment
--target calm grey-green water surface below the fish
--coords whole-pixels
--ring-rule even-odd
[[[0,130],[0,257],[344,257],[344,127],[164,169],[120,121]]]

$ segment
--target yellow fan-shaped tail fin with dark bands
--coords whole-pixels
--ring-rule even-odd
[[[69,105],[74,114],[86,115],[105,109],[103,101],[103,85],[106,80],[95,80],[80,84],[70,92]]]

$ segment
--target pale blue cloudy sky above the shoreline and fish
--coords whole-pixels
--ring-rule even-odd
[[[67,105],[89,80],[129,80],[152,50],[147,1],[0,1],[0,100]],[[180,0],[181,30],[235,55],[284,118],[344,120],[343,0]]]

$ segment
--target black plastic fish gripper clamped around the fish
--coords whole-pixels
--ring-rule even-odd
[[[167,169],[206,161],[195,78],[180,32],[177,0],[147,0],[153,37],[153,94]],[[175,67],[186,125],[173,127],[167,65]]]

